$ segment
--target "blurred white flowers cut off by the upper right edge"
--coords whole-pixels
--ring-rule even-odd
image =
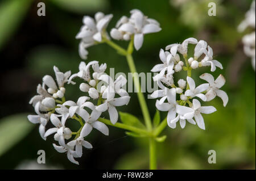
[[[251,64],[255,70],[255,0],[251,3],[251,8],[245,14],[245,19],[238,26],[238,31],[243,32],[247,27],[254,31],[243,36],[243,51],[251,57]]]

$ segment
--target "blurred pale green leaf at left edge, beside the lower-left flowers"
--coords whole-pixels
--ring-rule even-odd
[[[27,114],[4,117],[0,120],[0,156],[24,138],[34,127]]]

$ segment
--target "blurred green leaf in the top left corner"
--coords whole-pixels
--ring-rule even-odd
[[[19,26],[31,2],[31,0],[8,0],[0,3],[0,49]]]

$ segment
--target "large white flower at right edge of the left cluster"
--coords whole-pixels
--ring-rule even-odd
[[[122,75],[120,75],[114,82],[109,75],[101,75],[99,79],[108,83],[108,87],[102,94],[102,98],[106,100],[104,100],[103,104],[97,106],[96,110],[101,112],[108,110],[110,121],[112,124],[115,124],[118,120],[118,112],[115,107],[127,105],[130,101],[128,93],[121,88],[126,84],[127,80]],[[115,93],[120,97],[114,98]]]

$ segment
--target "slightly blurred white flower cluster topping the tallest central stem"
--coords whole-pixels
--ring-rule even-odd
[[[126,41],[134,37],[134,47],[138,50],[142,47],[145,34],[159,32],[161,28],[155,19],[147,18],[140,10],[135,9],[130,12],[130,18],[122,16],[115,28],[110,31],[110,35],[115,40]],[[84,16],[82,20],[84,25],[76,35],[76,39],[81,39],[79,54],[82,59],[87,59],[88,50],[86,48],[110,40],[106,28],[112,18],[112,14],[104,15],[102,12],[97,12],[94,19],[90,16]]]

